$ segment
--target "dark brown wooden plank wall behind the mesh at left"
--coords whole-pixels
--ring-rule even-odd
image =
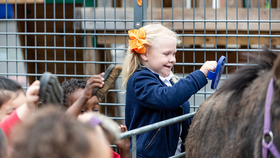
[[[63,4],[56,4],[55,6],[55,18],[62,19],[63,18],[63,9],[61,9]],[[46,4],[47,14],[46,18],[54,18],[54,12],[53,12],[53,4]],[[73,5],[72,4],[65,4],[65,9],[67,12],[65,12],[66,18],[73,18]],[[36,5],[36,18],[43,19],[44,18],[44,5],[43,4],[37,4]],[[17,5],[17,17],[19,19],[24,18],[24,5],[20,4]],[[27,4],[26,5],[26,16],[27,18],[34,18],[34,4]],[[19,32],[25,32],[25,29],[27,32],[44,32],[44,29],[46,29],[46,32],[54,32],[54,22],[46,22],[46,28],[44,28],[44,22],[37,21],[36,22],[36,30],[35,30],[35,22],[34,21],[27,21],[26,22],[26,28],[25,28],[25,22],[24,21],[18,21],[18,30]],[[55,22],[55,32],[63,33],[63,22]],[[73,33],[73,23],[72,22],[65,22],[65,32],[71,32]],[[82,31],[76,31],[77,33],[81,33]],[[27,35],[26,41],[25,36],[20,35],[21,39],[21,45],[25,46],[25,42],[27,46],[35,46],[35,35]],[[44,46],[44,43],[46,42],[46,46],[58,46],[63,47],[63,36],[60,35],[47,35],[46,41],[44,40],[44,35],[36,35],[36,41],[37,46]],[[54,43],[54,39],[56,42]],[[65,37],[65,43],[68,47],[74,47],[74,36],[66,36]],[[82,47],[82,37],[76,36],[76,46]],[[44,49],[27,49],[27,60],[35,60],[35,51],[37,52],[37,60],[45,60]],[[56,56],[54,56],[54,51],[56,51]],[[25,56],[25,49],[23,50]],[[66,59],[65,60],[74,60],[74,50],[65,50],[66,53]],[[76,50],[77,53],[77,61],[82,61],[82,53],[83,50]],[[64,50],[63,49],[46,49],[46,59],[47,60],[64,60]],[[55,64],[54,63],[47,63],[47,71],[51,73],[55,73]],[[57,74],[74,74],[74,64],[66,64],[66,72],[64,72],[64,64],[63,63],[57,63],[56,64],[56,73]],[[76,64],[77,66],[77,74],[83,74],[83,65],[82,64]],[[35,63],[27,63],[27,72],[35,74]],[[45,63],[37,63],[37,73],[42,74],[45,71]],[[39,78],[37,78],[39,79]],[[32,83],[35,80],[35,76],[29,76],[29,81]],[[62,82],[64,80],[63,77],[59,77],[59,80]]]

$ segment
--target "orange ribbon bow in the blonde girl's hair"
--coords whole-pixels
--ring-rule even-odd
[[[144,27],[139,28],[138,30],[133,29],[128,31],[130,40],[128,40],[131,51],[136,51],[140,54],[145,54],[146,48],[144,44],[150,44],[147,40],[144,40],[146,37]]]

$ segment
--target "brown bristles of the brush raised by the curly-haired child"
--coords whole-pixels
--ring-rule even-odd
[[[108,93],[108,90],[115,84],[115,81],[118,79],[119,74],[122,71],[122,66],[116,65],[109,76],[105,79],[105,84],[102,88],[98,89],[96,92],[96,96],[99,98],[99,102],[101,102],[105,95]]]

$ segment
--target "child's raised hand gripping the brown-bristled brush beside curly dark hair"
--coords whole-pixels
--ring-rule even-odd
[[[86,82],[86,87],[84,88],[83,97],[90,99],[92,97],[92,89],[95,87],[103,87],[105,84],[104,78],[102,77],[105,73],[102,72],[98,75],[93,75],[89,80]]]

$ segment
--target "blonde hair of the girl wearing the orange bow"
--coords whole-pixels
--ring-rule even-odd
[[[172,31],[171,29],[167,28],[166,26],[163,26],[159,22],[153,22],[150,24],[145,24],[144,26],[145,33],[146,33],[146,40],[150,43],[144,44],[146,48],[146,53],[149,53],[153,50],[153,48],[159,47],[159,40],[166,39],[166,38],[172,38],[176,41],[177,45],[180,45],[181,43],[181,37],[177,35],[176,32]],[[126,55],[124,57],[124,65],[123,65],[123,71],[122,71],[122,90],[123,93],[126,93],[126,84],[129,79],[129,77],[136,71],[136,69],[142,68],[141,63],[141,56],[139,53],[136,53],[134,51],[130,50],[130,46],[127,45],[127,51]],[[172,73],[172,71],[171,71]],[[172,73],[173,74],[173,73]],[[177,82],[177,79],[175,79],[175,82]]]

